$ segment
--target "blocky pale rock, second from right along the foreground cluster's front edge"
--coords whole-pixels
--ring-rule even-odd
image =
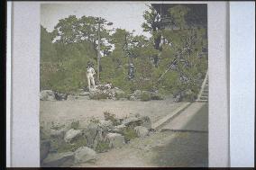
[[[121,148],[125,144],[124,137],[119,133],[108,133],[105,141],[109,144],[109,148]]]

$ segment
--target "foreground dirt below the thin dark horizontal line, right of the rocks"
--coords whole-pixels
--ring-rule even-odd
[[[207,134],[155,132],[123,148],[97,155],[96,162],[73,167],[206,167]]]

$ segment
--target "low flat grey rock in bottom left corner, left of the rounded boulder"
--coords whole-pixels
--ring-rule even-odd
[[[44,167],[73,166],[75,162],[75,154],[73,152],[53,153],[49,154],[42,161]]]

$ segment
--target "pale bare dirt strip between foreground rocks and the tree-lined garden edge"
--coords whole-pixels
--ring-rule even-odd
[[[182,103],[174,103],[171,98],[160,101],[113,101],[113,100],[76,100],[76,101],[41,101],[40,121],[65,123],[84,120],[94,116],[103,119],[103,112],[114,113],[122,118],[130,113],[149,116],[151,122],[158,121]]]

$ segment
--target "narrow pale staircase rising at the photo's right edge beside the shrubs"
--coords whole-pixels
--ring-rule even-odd
[[[196,102],[198,103],[208,103],[208,95],[209,95],[209,80],[208,80],[208,71],[206,73],[206,77],[201,86],[201,90],[197,96]]]

